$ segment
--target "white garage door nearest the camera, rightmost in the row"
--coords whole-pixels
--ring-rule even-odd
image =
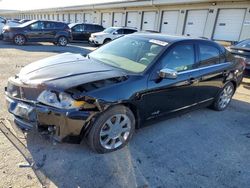
[[[214,40],[238,41],[245,9],[221,9],[214,31]]]

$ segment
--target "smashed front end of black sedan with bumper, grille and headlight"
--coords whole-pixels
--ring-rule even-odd
[[[35,86],[10,78],[5,90],[8,111],[22,130],[37,129],[57,141],[80,141],[96,115],[112,103],[88,96],[88,92],[124,81],[116,77],[85,83],[60,91],[45,84]]]

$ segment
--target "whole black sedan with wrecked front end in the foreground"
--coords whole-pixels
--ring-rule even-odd
[[[48,130],[59,141],[85,137],[105,153],[152,119],[225,110],[243,69],[209,40],[131,34],[86,57],[66,53],[26,66],[9,79],[6,98],[19,127]]]

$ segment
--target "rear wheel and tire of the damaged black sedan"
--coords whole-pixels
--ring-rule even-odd
[[[218,96],[215,98],[212,108],[217,111],[225,110],[230,104],[235,92],[235,87],[232,82],[227,83]]]

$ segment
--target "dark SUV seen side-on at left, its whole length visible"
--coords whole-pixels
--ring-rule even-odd
[[[71,39],[67,24],[54,21],[32,20],[24,24],[3,29],[3,40],[24,45],[26,42],[53,42],[66,46]]]

